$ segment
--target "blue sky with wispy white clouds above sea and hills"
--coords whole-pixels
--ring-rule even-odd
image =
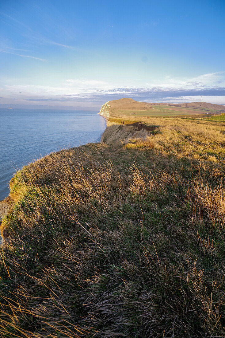
[[[1,0],[0,107],[225,104],[224,0]]]

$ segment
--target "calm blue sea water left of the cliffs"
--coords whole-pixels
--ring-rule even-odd
[[[69,147],[100,141],[105,119],[93,111],[0,108],[0,200],[23,165]]]

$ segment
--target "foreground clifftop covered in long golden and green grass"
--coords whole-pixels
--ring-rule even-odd
[[[225,336],[225,124],[149,122],[12,178],[1,337]]]

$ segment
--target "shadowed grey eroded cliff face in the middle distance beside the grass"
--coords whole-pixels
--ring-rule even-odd
[[[145,139],[155,127],[134,123],[133,125],[121,125],[115,122],[107,122],[107,127],[101,137],[101,143],[128,143],[130,139]]]

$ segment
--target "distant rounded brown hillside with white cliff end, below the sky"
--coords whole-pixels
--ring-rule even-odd
[[[193,116],[225,112],[225,106],[207,102],[191,103],[147,103],[138,102],[131,98],[122,98],[106,102],[100,115],[128,119],[132,116],[134,120],[147,119],[157,116]]]

